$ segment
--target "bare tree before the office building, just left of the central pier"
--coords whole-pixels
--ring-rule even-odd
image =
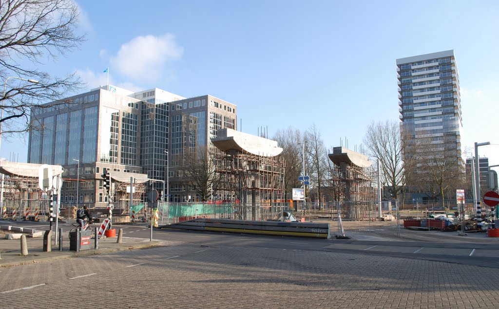
[[[192,190],[201,200],[208,200],[210,194],[217,191],[220,174],[215,170],[214,155],[206,147],[194,148],[184,153],[183,173]]]

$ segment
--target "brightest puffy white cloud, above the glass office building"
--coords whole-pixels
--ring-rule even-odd
[[[180,59],[183,52],[170,33],[138,36],[121,45],[109,63],[113,70],[131,80],[152,82],[162,76],[167,61]]]

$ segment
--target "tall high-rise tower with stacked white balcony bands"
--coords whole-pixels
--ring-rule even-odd
[[[461,95],[454,51],[400,58],[396,64],[401,134],[408,145],[404,155],[419,156],[417,177],[432,169],[431,164],[447,164],[446,168],[456,175],[464,172]]]

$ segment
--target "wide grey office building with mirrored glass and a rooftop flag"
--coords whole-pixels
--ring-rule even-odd
[[[28,162],[62,165],[61,203],[91,207],[107,206],[101,176],[106,171],[123,182],[131,176],[148,179],[149,188],[163,190],[166,152],[171,148],[181,154],[182,147],[192,147],[187,140],[179,144],[177,136],[172,140],[170,108],[175,111],[177,134],[179,116],[197,119],[196,130],[190,131],[197,133],[190,138],[197,147],[210,146],[210,128],[217,128],[220,119],[222,126],[228,116],[233,126],[237,119],[236,106],[228,102],[212,96],[186,100],[158,88],[132,92],[105,86],[46,105],[51,107],[31,112]],[[193,129],[189,121],[182,124]],[[172,146],[172,141],[177,143]],[[175,166],[170,174],[175,174]]]

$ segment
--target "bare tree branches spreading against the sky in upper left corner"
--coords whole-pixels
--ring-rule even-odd
[[[78,47],[78,7],[72,0],[0,1],[1,134],[29,130],[31,109],[51,108],[79,87],[74,73],[52,77],[42,59],[53,61]],[[55,102],[40,106],[40,103]]]

